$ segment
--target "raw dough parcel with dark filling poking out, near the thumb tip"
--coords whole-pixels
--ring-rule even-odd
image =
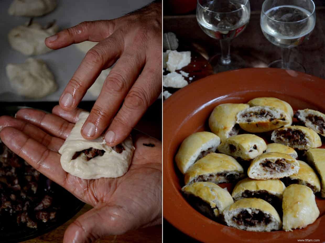
[[[25,55],[49,52],[51,49],[45,45],[45,38],[58,32],[59,27],[53,23],[49,28],[45,28],[38,23],[17,26],[8,33],[9,43],[13,49]]]

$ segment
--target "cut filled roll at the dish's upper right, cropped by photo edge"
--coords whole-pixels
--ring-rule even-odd
[[[303,122],[306,127],[313,129],[316,133],[325,136],[325,114],[311,109],[297,110],[294,117]]]

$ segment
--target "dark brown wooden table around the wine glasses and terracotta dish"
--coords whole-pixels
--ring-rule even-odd
[[[251,2],[250,22],[239,38],[231,42],[231,55],[238,55],[251,64],[251,67],[267,67],[281,58],[281,49],[272,45],[263,35],[260,27],[260,9],[263,0]],[[325,79],[325,1],[316,3],[316,26],[309,40],[292,48],[292,60],[302,63],[308,74]],[[174,32],[179,42],[195,43],[206,50],[209,57],[220,53],[219,42],[206,35],[197,23],[195,14],[163,17],[163,33]],[[325,83],[325,81],[324,81]],[[197,242],[163,220],[165,242]]]

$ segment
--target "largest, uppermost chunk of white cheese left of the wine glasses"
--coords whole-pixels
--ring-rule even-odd
[[[170,72],[175,72],[191,62],[191,52],[190,51],[170,51],[168,53],[167,70]]]

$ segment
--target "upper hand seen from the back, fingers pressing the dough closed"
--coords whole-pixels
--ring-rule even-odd
[[[82,22],[46,38],[45,44],[59,49],[87,40],[99,43],[85,55],[59,104],[66,111],[76,109],[100,72],[117,61],[82,128],[85,139],[95,139],[108,128],[105,141],[115,146],[162,90],[162,4],[118,19]]]

